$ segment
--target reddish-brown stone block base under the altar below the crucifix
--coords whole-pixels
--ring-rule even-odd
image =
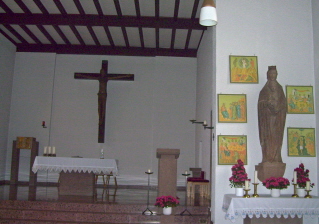
[[[60,173],[59,195],[93,196],[95,187],[94,173],[64,172]]]

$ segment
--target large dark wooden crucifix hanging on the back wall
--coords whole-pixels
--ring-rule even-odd
[[[89,79],[99,81],[98,92],[98,114],[99,114],[99,136],[98,143],[104,143],[104,131],[105,131],[105,110],[106,110],[106,98],[107,98],[107,82],[109,80],[118,81],[134,81],[133,74],[109,74],[108,61],[102,61],[102,68],[100,73],[74,73],[75,79]]]

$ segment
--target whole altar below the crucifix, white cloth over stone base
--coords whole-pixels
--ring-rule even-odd
[[[37,156],[32,171],[58,172],[59,195],[93,196],[95,175],[118,175],[117,160]]]

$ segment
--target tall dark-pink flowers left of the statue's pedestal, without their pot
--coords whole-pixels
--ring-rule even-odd
[[[237,160],[237,164],[232,166],[231,170],[232,176],[229,178],[230,187],[244,187],[245,180],[250,181],[244,167],[244,162],[240,159]]]

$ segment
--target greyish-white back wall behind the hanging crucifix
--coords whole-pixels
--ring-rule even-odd
[[[98,82],[74,79],[74,72],[99,73],[102,60],[109,61],[110,73],[131,73],[135,80],[108,82],[105,143],[99,144]],[[195,130],[188,121],[195,97],[195,58],[17,53],[9,141],[36,137],[40,154],[51,145],[57,156],[99,158],[103,148],[106,158],[119,160],[119,184],[145,185],[147,169],[155,171],[157,184],[157,148],[181,150],[178,173],[195,164]],[[184,185],[182,175],[178,184]]]

